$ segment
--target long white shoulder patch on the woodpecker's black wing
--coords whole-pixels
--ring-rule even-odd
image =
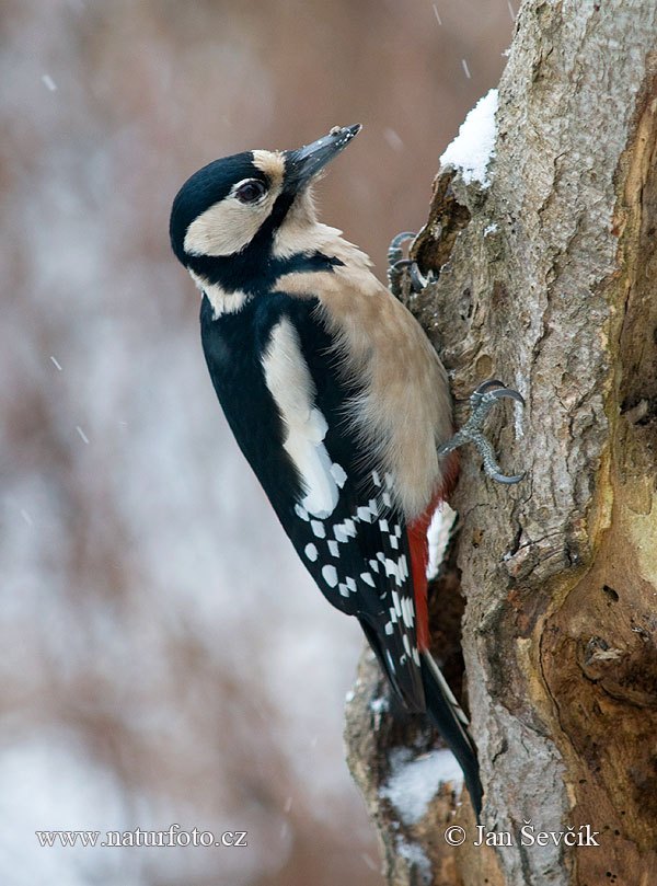
[[[336,469],[323,442],[328,426],[314,405],[314,383],[297,331],[287,318],[272,330],[263,368],[265,382],[286,427],[283,446],[303,484],[304,496],[299,504],[323,520],[337,505]],[[337,474],[342,480],[339,472]]]

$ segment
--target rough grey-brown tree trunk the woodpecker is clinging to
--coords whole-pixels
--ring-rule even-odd
[[[391,792],[403,749],[435,736],[392,721],[361,661],[349,764],[395,886],[657,883],[656,34],[655,0],[527,0],[489,181],[441,169],[414,246],[440,272],[408,304],[457,422],[484,379],[517,388],[525,411],[489,427],[505,472],[528,476],[498,485],[461,450],[433,601],[452,683],[462,631],[484,842],[509,844],[475,845],[449,784],[415,810]]]

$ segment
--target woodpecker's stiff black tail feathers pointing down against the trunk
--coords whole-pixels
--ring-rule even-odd
[[[468,717],[429,651],[424,649],[420,656],[427,715],[463,770],[465,787],[479,821],[483,790],[479,776],[476,748],[468,732]]]

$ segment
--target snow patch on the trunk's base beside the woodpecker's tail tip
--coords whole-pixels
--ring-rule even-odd
[[[410,748],[397,748],[391,755],[391,773],[381,796],[395,807],[404,825],[415,825],[442,782],[463,782],[463,773],[450,750],[440,749],[416,759]]]

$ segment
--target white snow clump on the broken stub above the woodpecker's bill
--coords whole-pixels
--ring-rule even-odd
[[[495,156],[496,112],[497,90],[492,89],[468,114],[459,135],[448,145],[440,158],[440,165],[451,165],[461,170],[465,184],[471,182],[480,182],[484,186],[489,184],[487,169]]]

